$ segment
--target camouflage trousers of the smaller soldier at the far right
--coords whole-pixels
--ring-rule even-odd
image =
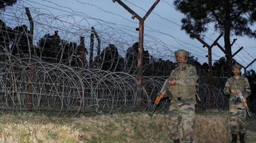
[[[230,130],[232,134],[246,133],[245,129],[245,118],[246,111],[243,103],[234,103],[234,100],[229,101],[229,119],[230,119]]]

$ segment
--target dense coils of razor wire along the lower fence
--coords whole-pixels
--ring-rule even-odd
[[[56,112],[56,115],[72,111],[77,115],[88,111],[110,114],[136,109],[136,75],[101,69],[76,69],[4,54],[1,57],[9,59],[1,62],[0,107],[4,110],[47,110]],[[166,78],[143,77],[143,110],[152,109],[154,98]],[[206,109],[209,105],[208,84],[200,83],[199,89],[202,101],[197,107]],[[32,104],[30,108],[29,104]],[[161,103],[163,108],[167,105],[168,100]],[[218,88],[214,88],[213,105],[217,109],[224,108],[224,97]]]

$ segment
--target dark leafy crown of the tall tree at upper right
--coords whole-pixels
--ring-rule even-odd
[[[256,37],[250,27],[256,19],[255,0],[175,0],[174,5],[185,14],[182,29],[186,31],[200,34],[213,23],[217,31],[229,27],[236,35]]]

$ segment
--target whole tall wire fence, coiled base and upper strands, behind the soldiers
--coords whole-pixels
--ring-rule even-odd
[[[33,7],[29,11],[33,17],[32,29],[24,1],[1,11],[2,111],[51,111],[56,116],[68,112],[76,116],[138,109],[138,38],[130,30],[133,27],[81,13],[54,16],[50,11],[41,13]],[[145,37],[140,109],[151,111],[163,82],[175,67],[172,61],[176,48],[156,37],[146,34]],[[197,108],[206,109],[210,101],[208,73],[200,70],[198,74],[202,101]],[[215,85],[213,107],[226,109],[223,85]],[[161,109],[168,105],[168,99],[160,104]]]

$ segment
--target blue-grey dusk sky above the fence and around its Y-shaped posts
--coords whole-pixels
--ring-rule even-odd
[[[128,5],[133,11],[138,15],[143,17],[152,6],[155,0],[122,0],[126,5]],[[117,2],[113,3],[112,0],[20,0],[20,3],[24,6],[30,8],[36,8],[40,13],[50,13],[50,15],[59,16],[58,18],[63,18],[66,21],[72,23],[76,21],[78,25],[85,25],[89,29],[91,26],[95,26],[95,29],[102,28],[102,21],[106,21],[108,26],[114,30],[115,24],[121,28],[123,33],[130,34],[134,37],[138,37],[138,32],[135,31],[135,28],[139,27],[138,20],[131,19],[132,15],[126,11],[121,5]],[[84,15],[85,17],[91,17],[96,20],[87,20],[87,23],[84,23],[82,20],[79,20],[79,17],[72,16],[72,20],[67,19],[64,15]],[[68,16],[67,16],[68,17]],[[82,16],[80,16],[81,18]],[[208,59],[205,55],[208,54],[207,49],[202,47],[202,44],[196,39],[189,38],[189,35],[185,33],[184,30],[181,30],[181,19],[183,14],[173,6],[173,0],[161,0],[156,8],[154,8],[153,13],[145,20],[145,42],[144,47],[146,50],[149,50],[150,55],[154,55],[157,58],[163,56],[164,59],[173,60],[173,52],[180,48],[188,50],[191,55],[198,57],[200,63],[208,62]],[[76,19],[77,18],[77,19]],[[64,20],[64,21],[65,21]],[[100,23],[100,24],[99,24]],[[109,24],[114,23],[114,24]],[[100,27],[97,27],[100,25]],[[71,27],[69,25],[69,27]],[[122,28],[123,27],[123,28]],[[213,31],[213,26],[208,26],[209,30],[204,37],[205,42],[209,45],[219,36],[218,32]],[[255,29],[255,26],[254,26]],[[124,37],[120,37],[124,38]],[[230,40],[237,38],[235,44],[232,47],[232,53],[236,52],[241,46],[241,50],[235,57],[237,61],[241,62],[242,65],[247,66],[251,61],[256,58],[256,39],[244,37],[232,36]],[[162,49],[161,46],[154,50],[147,49],[147,47],[154,47],[155,43],[147,43],[146,40],[152,41],[152,39],[158,39],[165,43],[165,47]],[[127,38],[124,38],[125,41]],[[131,43],[132,44],[132,43]],[[223,37],[219,40],[219,44],[224,46]],[[169,56],[169,57],[168,57]],[[223,57],[224,54],[217,47],[213,47],[213,60],[218,60],[220,57]],[[248,67],[247,70],[254,69],[256,70],[256,62],[252,66]]]

